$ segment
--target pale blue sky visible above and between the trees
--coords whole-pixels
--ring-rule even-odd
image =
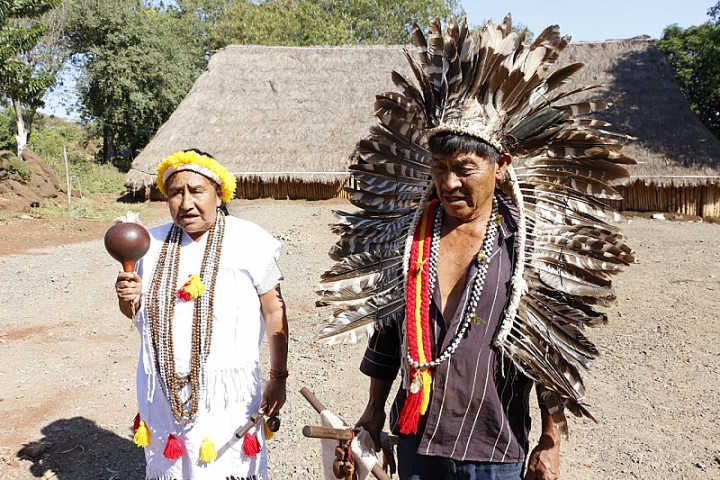
[[[535,35],[549,25],[560,25],[563,35],[573,41],[602,41],[650,35],[660,38],[663,29],[674,23],[682,28],[708,21],[707,11],[717,0],[462,0],[471,25],[487,20],[501,22],[512,14],[514,24],[524,24]],[[78,120],[62,104],[75,99],[75,82],[66,73],[64,86],[46,95],[40,111]],[[62,100],[65,99],[66,102]],[[70,102],[67,102],[70,100]]]

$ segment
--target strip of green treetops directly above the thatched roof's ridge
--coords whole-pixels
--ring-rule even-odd
[[[412,24],[447,18],[457,0],[180,0],[205,22],[211,49],[228,44],[406,44]]]

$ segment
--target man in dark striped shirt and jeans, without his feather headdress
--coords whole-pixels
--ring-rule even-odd
[[[414,292],[416,301],[407,299],[405,314],[413,380],[409,389],[400,389],[390,417],[400,434],[400,475],[441,479],[449,468],[495,475],[452,478],[519,479],[528,450],[532,382],[512,362],[503,364],[492,344],[509,300],[517,231],[517,210],[496,183],[512,157],[469,135],[441,133],[429,145],[437,199],[428,202],[415,228],[408,277],[419,278],[422,291]],[[423,240],[429,240],[429,255],[420,251]],[[376,439],[403,358],[395,325],[373,335],[360,367],[371,387],[357,425]],[[428,344],[430,351],[422,351]],[[424,370],[429,378],[423,385],[421,368],[430,358],[436,365]],[[543,475],[528,478],[557,478],[560,433],[544,405],[541,412],[542,441],[530,465]]]

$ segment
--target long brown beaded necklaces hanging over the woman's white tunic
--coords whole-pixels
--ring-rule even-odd
[[[205,363],[212,342],[215,281],[224,234],[225,215],[218,211],[215,224],[208,231],[200,267],[200,279],[207,288],[195,299],[193,307],[190,372],[187,375],[177,373],[173,341],[173,318],[175,302],[177,302],[177,276],[182,242],[182,230],[177,225],[173,225],[168,232],[148,291],[148,317],[155,368],[160,375],[161,385],[175,420],[182,425],[195,420],[198,405],[205,398]],[[189,395],[182,394],[188,386]]]

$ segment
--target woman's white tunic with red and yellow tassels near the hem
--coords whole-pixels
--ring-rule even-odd
[[[152,282],[154,266],[172,224],[150,229],[150,250],[138,262],[143,279],[143,298]],[[200,272],[207,233],[194,242],[183,232],[178,285]],[[207,393],[191,425],[176,423],[156,372],[145,302],[136,316],[142,339],[137,370],[137,397],[140,418],[150,430],[145,448],[147,479],[267,479],[267,454],[262,423],[250,430],[261,447],[256,458],[243,453],[242,439],[235,438],[258,411],[262,388],[259,347],[265,334],[258,295],[272,290],[282,279],[277,266],[282,245],[254,223],[227,216],[220,265],[215,284],[212,344],[205,365]],[[173,320],[175,366],[179,374],[190,371],[190,345],[194,301],[177,300]],[[183,456],[165,458],[168,435],[181,441]],[[200,462],[200,445],[208,438],[215,444],[214,462]]]

